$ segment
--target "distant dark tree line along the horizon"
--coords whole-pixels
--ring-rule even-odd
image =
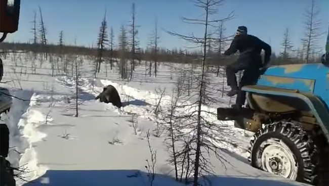
[[[290,39],[290,29],[285,28],[281,42],[281,51],[273,53],[271,64],[295,64],[295,63],[318,63],[322,55],[322,48],[320,47],[321,36],[320,33],[321,22],[317,18],[319,11],[315,5],[314,0],[310,0],[310,6],[305,10],[303,20],[305,27],[305,35],[301,38],[301,45],[295,45]],[[98,33],[98,38],[95,46],[76,46],[65,43],[64,32],[60,31],[59,40],[57,43],[49,43],[47,39],[47,28],[45,20],[42,15],[42,9],[38,7],[37,12],[34,11],[33,20],[31,21],[32,38],[25,42],[3,42],[0,43],[0,50],[2,51],[30,51],[37,55],[42,55],[45,59],[48,54],[64,55],[86,55],[95,57],[97,63],[97,71],[103,63],[110,63],[113,66],[116,60],[120,60],[125,64],[125,60],[130,60],[130,64],[121,65],[121,70],[130,69],[133,71],[136,63],[141,61],[151,62],[150,68],[157,71],[157,64],[159,62],[169,63],[194,63],[198,64],[202,57],[202,51],[189,51],[186,49],[166,49],[161,47],[160,35],[158,32],[158,20],[154,18],[154,28],[148,38],[148,45],[145,49],[139,46],[137,14],[135,3],[131,7],[131,20],[126,26],[122,24],[120,32],[115,35],[113,27],[108,28],[106,20],[106,12],[101,21],[101,26]],[[231,17],[230,19],[232,19]],[[232,35],[226,34],[225,23],[230,19],[223,20],[213,28],[216,33],[208,40],[208,59],[207,65],[224,66],[236,59],[236,56],[223,57],[222,53],[228,48]],[[188,23],[189,20],[183,20]],[[283,31],[283,30],[282,30]],[[170,32],[168,32],[170,33]],[[117,39],[115,39],[115,37]],[[323,42],[324,43],[324,42]],[[324,45],[324,44],[323,44]],[[125,60],[123,59],[125,58]]]

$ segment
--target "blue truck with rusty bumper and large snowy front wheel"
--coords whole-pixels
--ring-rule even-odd
[[[242,110],[218,108],[219,120],[255,132],[253,167],[313,185],[329,185],[329,31],[321,63],[268,68],[241,88]]]

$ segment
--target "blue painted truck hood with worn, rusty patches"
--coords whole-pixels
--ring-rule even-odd
[[[280,65],[273,66],[265,72],[265,76],[261,77],[258,81],[258,85],[263,86],[274,86],[282,87],[287,89],[299,89],[300,91],[310,92],[307,90],[308,87],[301,81],[294,82],[282,82],[279,84],[273,84],[272,81],[267,80],[266,75],[269,76],[280,76],[280,77],[291,77],[301,79],[314,79],[315,86],[313,94],[320,97],[327,106],[329,106],[329,90],[326,88],[327,85],[327,74],[329,68],[323,64],[296,64],[296,65]]]

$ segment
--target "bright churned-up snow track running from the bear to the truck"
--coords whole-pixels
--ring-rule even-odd
[[[72,86],[75,84],[74,79],[67,76],[58,78],[57,80],[61,82],[62,85],[64,86]],[[137,104],[137,105],[130,104],[120,109],[114,107],[112,104],[108,104],[106,106],[107,109],[114,110],[121,115],[137,114],[139,117],[149,119],[153,122],[156,122],[157,120],[153,112],[160,95],[154,94],[151,91],[140,90],[131,86],[122,85],[105,79],[101,79],[99,81],[96,81],[95,83],[95,80],[93,79],[81,78],[79,80],[79,83],[80,83],[79,88],[81,90],[88,92],[89,94],[92,94],[94,96],[98,96],[100,92],[103,91],[104,86],[111,84],[119,92],[122,103],[127,103],[127,102],[132,103],[131,99],[135,99],[135,102],[145,103],[145,104]],[[165,108],[166,106],[168,107],[171,104],[171,97],[163,96],[161,102],[162,102],[161,106],[163,108]],[[188,114],[194,111],[192,109],[196,109],[196,107],[180,109],[179,112],[182,114],[183,113]],[[210,113],[217,112],[215,108],[210,108],[207,106],[202,106],[201,109],[204,111],[208,111]],[[243,136],[244,134],[243,130],[235,128],[234,122],[232,121],[218,121],[215,115],[211,115],[203,112],[202,116],[204,118],[207,118],[207,120],[211,122],[225,126],[223,127],[223,131],[216,134],[218,134],[221,138],[223,138],[223,140],[236,143],[236,145],[233,145],[233,143],[231,144],[231,143],[223,142],[221,144],[218,144],[220,148],[226,149],[230,152],[234,152],[244,158],[248,157],[249,153],[247,152],[247,149],[249,146],[250,137]]]

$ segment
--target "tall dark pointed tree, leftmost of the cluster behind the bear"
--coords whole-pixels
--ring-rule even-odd
[[[101,70],[101,63],[103,62],[105,45],[107,44],[107,42],[108,42],[108,34],[107,34],[107,22],[106,22],[106,11],[105,11],[101,27],[99,28],[98,39],[97,39],[97,49],[98,49],[98,54],[97,54],[98,59],[96,63],[97,73],[99,73]]]

